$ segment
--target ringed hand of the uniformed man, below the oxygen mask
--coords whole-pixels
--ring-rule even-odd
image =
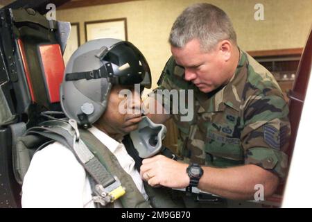
[[[140,175],[152,187],[185,188],[189,185],[187,166],[164,155],[156,155],[143,160]]]

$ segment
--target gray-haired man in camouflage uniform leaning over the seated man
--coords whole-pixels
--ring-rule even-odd
[[[172,106],[170,116],[179,130],[179,154],[204,171],[198,188],[229,199],[254,199],[255,185],[263,185],[264,196],[272,195],[286,177],[283,151],[290,135],[288,106],[272,74],[239,49],[229,17],[208,3],[184,10],[169,42],[173,56],[158,89],[193,90],[193,119],[181,121]],[[163,106],[173,104],[170,96],[163,97]],[[169,115],[148,116],[163,122]],[[187,167],[157,155],[143,161],[141,177],[152,186],[185,188]]]

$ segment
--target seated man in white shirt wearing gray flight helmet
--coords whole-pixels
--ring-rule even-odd
[[[130,42],[93,40],[80,46],[68,62],[60,88],[61,105],[69,119],[87,128],[108,148],[107,152],[113,154],[110,159],[118,160],[125,171],[119,179],[128,176],[128,182],[134,184],[128,194],[137,192],[139,207],[149,207],[135,161],[121,143],[142,118],[140,112],[119,112],[125,99],[119,96],[122,89],[137,94],[126,108],[140,110],[141,97],[135,84],[150,87],[150,69],[141,52]],[[22,190],[23,207],[95,206],[94,188],[84,167],[69,148],[58,142],[35,153]],[[121,202],[114,201],[114,207],[127,207]]]

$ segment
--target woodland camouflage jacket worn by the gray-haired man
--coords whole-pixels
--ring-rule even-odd
[[[171,57],[162,71],[157,89],[193,89],[193,119],[181,121],[173,113],[173,98],[162,93],[162,104],[170,103],[179,131],[178,154],[211,167],[256,164],[285,178],[290,123],[288,105],[270,72],[248,53],[241,52],[230,82],[215,92],[203,93],[184,80],[184,69]],[[154,96],[161,90],[154,90]],[[186,99],[179,103],[192,103]],[[184,104],[184,105],[185,105]],[[180,105],[177,110],[180,110]],[[185,113],[185,112],[184,112]]]

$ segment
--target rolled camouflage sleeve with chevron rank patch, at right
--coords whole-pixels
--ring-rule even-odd
[[[245,164],[256,164],[284,179],[288,168],[291,126],[288,106],[281,96],[254,96],[244,110],[245,128],[241,142]]]

